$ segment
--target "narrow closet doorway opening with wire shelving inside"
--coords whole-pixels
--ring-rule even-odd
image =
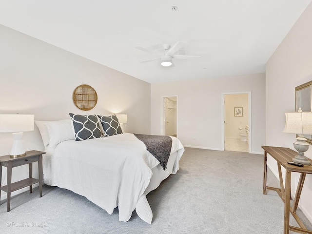
[[[177,96],[162,97],[162,135],[177,137]]]

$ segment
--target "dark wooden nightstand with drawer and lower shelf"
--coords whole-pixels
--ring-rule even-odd
[[[21,157],[10,157],[10,155],[0,156],[0,181],[2,177],[2,166],[7,168],[7,185],[0,187],[1,190],[7,194],[7,212],[10,211],[10,202],[11,202],[11,192],[25,188],[29,186],[29,193],[32,193],[32,185],[39,183],[39,195],[42,196],[42,181],[43,181],[43,172],[42,172],[42,155],[45,152],[32,150],[27,151],[25,156]],[[38,162],[39,169],[39,179],[33,178],[33,162]],[[15,183],[11,183],[12,180],[12,168],[18,167],[21,165],[29,165],[29,178],[20,180]]]

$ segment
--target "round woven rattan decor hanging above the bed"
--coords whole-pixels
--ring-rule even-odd
[[[98,95],[94,88],[82,84],[74,90],[73,101],[80,110],[89,111],[96,106]]]

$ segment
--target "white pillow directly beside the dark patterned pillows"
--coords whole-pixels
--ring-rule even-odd
[[[47,121],[44,125],[48,128],[50,147],[52,148],[62,141],[75,139],[70,119]]]

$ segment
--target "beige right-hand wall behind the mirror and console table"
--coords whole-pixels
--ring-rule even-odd
[[[292,27],[266,64],[266,145],[293,149],[294,134],[282,133],[285,112],[295,110],[294,89],[312,80],[312,3]],[[312,147],[305,153],[312,158]],[[276,162],[268,165],[277,175]],[[292,174],[292,191],[299,175]],[[307,175],[300,208],[312,222],[312,175]]]

